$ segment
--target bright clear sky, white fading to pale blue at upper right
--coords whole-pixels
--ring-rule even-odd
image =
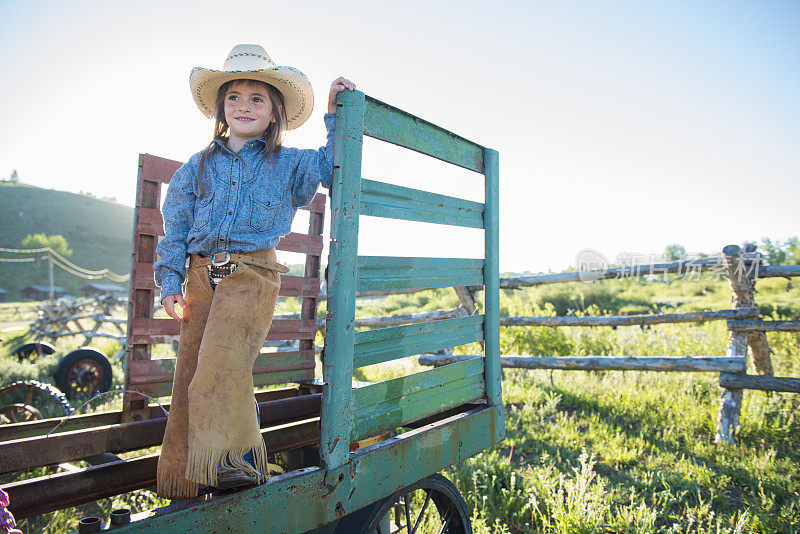
[[[800,234],[799,2],[0,0],[0,177],[132,205],[137,155],[185,160],[188,90],[237,43],[500,152],[504,271],[592,248]],[[481,200],[479,175],[365,143],[363,175]],[[52,214],[51,214],[52,216]],[[481,232],[362,220],[361,254],[480,256]]]

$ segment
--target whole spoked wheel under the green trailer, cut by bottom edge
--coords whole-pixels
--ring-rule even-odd
[[[339,523],[336,532],[359,534],[389,534],[403,531],[408,534],[438,532],[442,534],[472,534],[467,505],[458,489],[442,475],[431,475],[397,491],[368,508],[366,516],[353,514]]]

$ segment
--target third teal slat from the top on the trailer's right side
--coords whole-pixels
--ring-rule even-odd
[[[483,260],[358,257],[358,291],[429,289],[483,283]]]

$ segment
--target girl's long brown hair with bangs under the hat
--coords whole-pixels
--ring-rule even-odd
[[[272,103],[272,116],[275,122],[270,122],[261,139],[264,140],[264,157],[270,158],[272,154],[277,154],[281,149],[283,143],[283,134],[286,132],[288,120],[286,119],[286,104],[283,100],[283,93],[268,83],[258,80],[231,80],[222,84],[217,91],[217,100],[214,103],[214,137],[203,152],[200,153],[200,161],[197,164],[197,185],[200,188],[200,196],[205,196],[205,189],[203,188],[203,172],[205,171],[208,158],[217,148],[217,140],[225,140],[228,138],[228,122],[225,120],[225,95],[228,93],[233,85],[247,84],[257,85],[265,89],[270,102]]]

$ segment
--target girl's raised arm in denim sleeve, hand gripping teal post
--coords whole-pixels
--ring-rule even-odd
[[[336,128],[336,95],[345,89],[354,91],[355,84],[346,78],[336,78],[331,83],[328,94],[328,113],[325,127],[328,139],[319,150],[300,150],[297,166],[292,176],[292,207],[307,206],[317,192],[320,182],[324,187],[331,186],[333,174],[333,133]]]

